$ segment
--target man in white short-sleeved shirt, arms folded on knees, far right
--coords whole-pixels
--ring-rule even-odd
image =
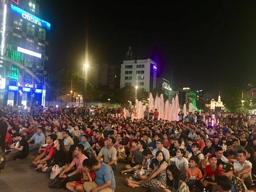
[[[252,185],[252,163],[246,160],[245,151],[237,151],[237,161],[234,162],[234,175],[239,177],[249,188]]]

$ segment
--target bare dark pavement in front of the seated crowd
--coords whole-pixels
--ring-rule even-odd
[[[27,159],[6,162],[6,166],[0,175],[1,192],[68,192],[68,190],[64,189],[48,188],[49,175],[35,172],[34,167],[29,165],[29,162],[35,156],[36,152],[32,152],[28,155]],[[132,174],[121,175],[120,171],[123,169],[124,164],[119,163],[117,170],[114,171],[116,181],[115,192],[145,192],[145,188],[137,187],[132,189],[126,186],[125,177],[130,177]]]

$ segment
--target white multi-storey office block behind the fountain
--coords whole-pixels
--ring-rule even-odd
[[[139,88],[150,91],[156,87],[156,70],[156,62],[151,59],[123,61],[120,88],[126,85],[137,85]]]

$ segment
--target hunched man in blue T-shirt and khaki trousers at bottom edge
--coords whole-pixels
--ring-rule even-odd
[[[83,183],[85,192],[114,192],[115,176],[113,170],[104,162],[98,162],[95,158],[85,161],[84,166],[95,171],[95,181]]]

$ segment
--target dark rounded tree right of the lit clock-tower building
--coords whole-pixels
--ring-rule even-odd
[[[242,91],[243,91],[243,112],[247,112],[250,105],[250,96],[246,90],[239,87],[232,87],[224,94],[223,103],[228,111],[231,113],[242,113]]]

